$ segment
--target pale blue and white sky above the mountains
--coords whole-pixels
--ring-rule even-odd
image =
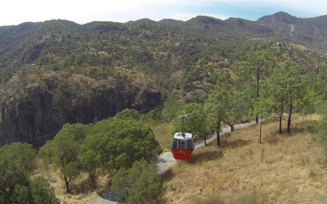
[[[314,17],[327,14],[325,4],[326,0],[3,0],[0,2],[0,25],[51,19],[80,24],[141,18],[188,20],[197,15],[256,20],[277,11],[297,17]]]

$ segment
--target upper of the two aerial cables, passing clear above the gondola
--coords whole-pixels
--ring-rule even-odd
[[[315,69],[312,69],[312,70],[309,70],[309,71],[306,71],[306,72],[303,72],[301,73],[300,75],[302,74],[305,74],[305,73],[308,73],[308,72],[311,72],[311,71],[315,71],[315,70],[318,70],[322,67],[316,67]],[[266,77],[262,77],[260,78],[261,80],[265,79]],[[285,80],[285,79],[284,79]],[[236,85],[244,85],[244,82],[240,82],[240,83],[237,83],[237,84],[232,84],[231,87],[234,87]],[[137,111],[137,113],[141,113],[141,112],[144,112],[144,111],[148,111],[148,110],[152,110],[152,109],[155,109],[155,108],[159,108],[159,107],[162,107],[162,106],[165,106],[165,105],[170,105],[170,104],[174,104],[174,103],[177,103],[178,101],[183,101],[183,100],[187,100],[187,99],[190,99],[190,98],[194,98],[194,97],[197,97],[197,96],[202,96],[202,95],[207,95],[208,93],[202,93],[202,94],[197,94],[197,95],[194,95],[194,96],[190,96],[190,97],[186,97],[186,98],[183,98],[183,99],[178,99],[178,100],[175,100],[175,101],[172,101],[170,103],[167,103],[167,104],[162,104],[162,105],[159,105],[159,106],[155,106],[155,107],[151,107],[151,108],[147,108],[147,109],[144,109],[144,110],[141,110],[141,111]],[[118,116],[118,117],[110,117],[110,118],[122,118],[122,117],[126,117],[128,115],[133,115],[135,113],[128,113],[128,114],[125,114],[125,115],[122,115],[122,116]],[[85,124],[85,125],[94,125],[96,123],[98,123],[100,121],[97,121],[97,122],[93,122],[93,123],[88,123],[88,124]],[[59,131],[58,131],[59,132]],[[39,136],[39,137],[35,137],[35,138],[31,138],[31,139],[27,139],[27,140],[22,140],[22,141],[17,141],[17,142],[28,142],[28,141],[32,141],[32,140],[36,140],[36,139],[39,139],[39,138],[43,138],[41,139],[40,141],[37,141],[35,143],[30,143],[30,144],[38,144],[38,143],[41,143],[41,142],[44,142],[50,138],[47,138],[49,136],[53,136],[53,135],[56,135],[58,132],[56,133],[52,133],[52,134],[48,134],[48,135],[44,135],[44,136]],[[3,145],[4,146],[4,145]],[[0,146],[1,147],[1,146]]]

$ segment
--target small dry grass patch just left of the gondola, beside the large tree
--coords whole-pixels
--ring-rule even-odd
[[[170,151],[170,144],[173,140],[173,135],[169,133],[171,126],[171,122],[164,122],[152,127],[155,138],[164,151]]]

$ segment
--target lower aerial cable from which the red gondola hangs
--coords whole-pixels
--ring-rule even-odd
[[[299,83],[299,82],[301,83],[301,82],[303,82],[303,81],[305,81],[305,80],[308,80],[308,79],[312,79],[313,77],[317,77],[318,75],[321,75],[321,74],[324,74],[324,73],[327,73],[327,71],[322,72],[322,73],[317,73],[317,74],[315,74],[314,76],[311,75],[310,77],[307,77],[307,78],[305,78],[305,79],[302,79],[302,80],[299,80],[299,81],[297,81],[297,82],[294,82],[294,84],[295,84],[295,83]],[[303,74],[304,74],[304,73],[297,74],[297,75],[303,75]],[[279,81],[284,81],[284,80],[287,80],[287,79],[291,79],[291,78],[296,77],[297,75],[292,76],[292,77],[289,77],[289,78],[286,78],[286,79],[283,79],[283,80],[279,80]],[[278,82],[278,81],[276,81],[276,82]],[[278,87],[279,87],[279,86],[278,86]],[[278,87],[272,88],[272,89],[267,90],[267,91],[264,91],[264,92],[262,92],[262,93],[272,91],[272,90],[274,90],[274,89],[276,89],[276,88],[278,88]],[[208,110],[211,110],[211,109],[214,109],[214,108],[219,108],[219,107],[226,106],[226,105],[230,105],[230,104],[235,103],[235,102],[237,102],[237,101],[244,100],[244,98],[252,97],[252,96],[255,96],[255,95],[256,95],[256,93],[251,94],[251,95],[249,95],[249,96],[247,96],[247,97],[240,97],[239,99],[237,99],[237,100],[233,100],[233,101],[230,101],[230,102],[228,102],[228,103],[224,103],[224,104],[220,104],[220,105],[218,105],[218,106],[214,106],[214,107],[210,107],[210,108],[207,108],[207,109],[203,109],[203,110],[201,110],[201,111],[197,111],[197,112],[189,113],[189,115],[192,115],[192,114],[195,114],[195,113],[205,112],[205,111],[208,111]],[[121,131],[129,131],[129,130],[136,129],[136,128],[138,128],[138,127],[143,127],[143,126],[146,126],[146,125],[153,125],[153,124],[157,124],[157,123],[161,123],[161,122],[169,121],[169,120],[172,120],[172,119],[175,119],[175,118],[176,118],[176,117],[169,118],[169,119],[165,119],[165,120],[160,120],[160,121],[157,121],[157,122],[146,123],[146,124],[143,123],[142,125],[138,125],[138,126],[134,126],[134,127],[129,127],[129,128],[127,128],[127,129],[123,129],[123,130],[119,130],[119,131],[113,131],[113,132],[109,132],[109,133],[106,133],[106,134],[118,133],[118,132],[121,132]],[[57,144],[57,145],[61,145],[61,144],[69,143],[69,142],[75,142],[75,141],[84,140],[84,139],[86,139],[86,138],[100,137],[100,136],[103,136],[103,135],[104,135],[104,134],[101,134],[101,135],[94,135],[94,136],[88,136],[88,137],[79,138],[79,139],[75,139],[75,140],[69,140],[69,141],[60,142],[60,143],[56,143],[56,144]],[[37,148],[38,148],[38,147],[34,147],[34,148],[32,148],[32,149],[37,149]],[[12,151],[9,151],[9,152],[12,152]]]

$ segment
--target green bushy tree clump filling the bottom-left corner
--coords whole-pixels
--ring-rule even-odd
[[[41,177],[30,180],[36,150],[27,143],[0,148],[0,201],[4,204],[59,204],[54,189]]]

